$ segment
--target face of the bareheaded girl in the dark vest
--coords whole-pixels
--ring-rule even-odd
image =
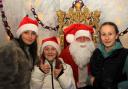
[[[112,48],[118,38],[118,34],[111,25],[104,25],[100,29],[100,38],[105,48]]]

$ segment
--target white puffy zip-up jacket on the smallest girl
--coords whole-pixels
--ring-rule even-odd
[[[53,63],[53,68],[54,65],[55,63]],[[71,66],[63,63],[63,67],[64,73],[58,80],[53,77],[54,89],[76,89]],[[51,72],[44,74],[39,67],[35,66],[32,72],[31,89],[52,89]]]

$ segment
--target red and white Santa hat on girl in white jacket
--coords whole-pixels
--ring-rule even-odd
[[[59,46],[59,43],[58,43],[58,40],[55,36],[53,37],[49,37],[49,38],[45,38],[42,40],[42,45],[41,45],[41,54],[44,50],[44,47],[46,46],[53,46],[54,48],[56,48],[57,52],[58,52],[58,55],[60,54],[60,46]]]

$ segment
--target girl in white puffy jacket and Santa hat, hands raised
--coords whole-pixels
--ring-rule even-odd
[[[32,72],[31,89],[76,89],[71,66],[58,58],[60,47],[56,37],[42,42],[39,65]]]

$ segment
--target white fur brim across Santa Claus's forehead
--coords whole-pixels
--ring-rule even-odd
[[[75,39],[77,39],[80,36],[86,36],[91,39],[91,34],[88,30],[79,30],[75,33]]]

